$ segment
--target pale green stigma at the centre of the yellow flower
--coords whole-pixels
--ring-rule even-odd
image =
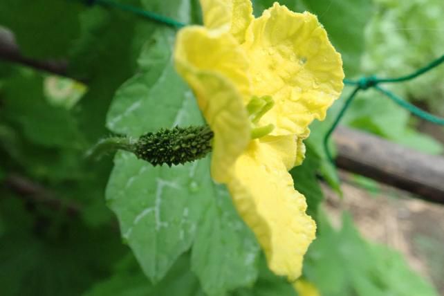
[[[263,97],[257,97],[254,95],[250,102],[247,104],[247,111],[250,115],[250,120],[252,123],[252,129],[251,129],[251,138],[257,139],[261,138],[263,136],[268,135],[268,133],[271,133],[273,129],[275,129],[275,126],[273,124],[267,124],[263,127],[259,127],[259,120],[261,117],[270,111],[272,107],[274,106],[275,101],[271,98],[270,95],[264,95]]]

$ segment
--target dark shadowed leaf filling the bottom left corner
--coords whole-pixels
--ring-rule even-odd
[[[66,223],[60,215],[30,214],[12,198],[1,202],[1,295],[80,295],[122,255],[111,228],[91,230],[75,218]]]

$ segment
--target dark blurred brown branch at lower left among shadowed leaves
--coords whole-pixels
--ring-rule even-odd
[[[70,216],[75,216],[80,212],[79,205],[59,198],[54,192],[50,192],[43,186],[23,176],[10,174],[4,181],[4,185],[24,201],[36,205],[45,205],[54,211],[66,211]]]

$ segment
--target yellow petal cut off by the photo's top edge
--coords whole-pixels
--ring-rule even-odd
[[[253,19],[250,0],[201,0],[203,23],[209,29],[225,30],[239,43]]]

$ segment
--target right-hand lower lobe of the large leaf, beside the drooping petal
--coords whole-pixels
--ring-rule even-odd
[[[192,270],[208,295],[225,295],[256,280],[259,246],[234,210],[225,186],[208,177],[202,186],[208,204],[193,245]]]

